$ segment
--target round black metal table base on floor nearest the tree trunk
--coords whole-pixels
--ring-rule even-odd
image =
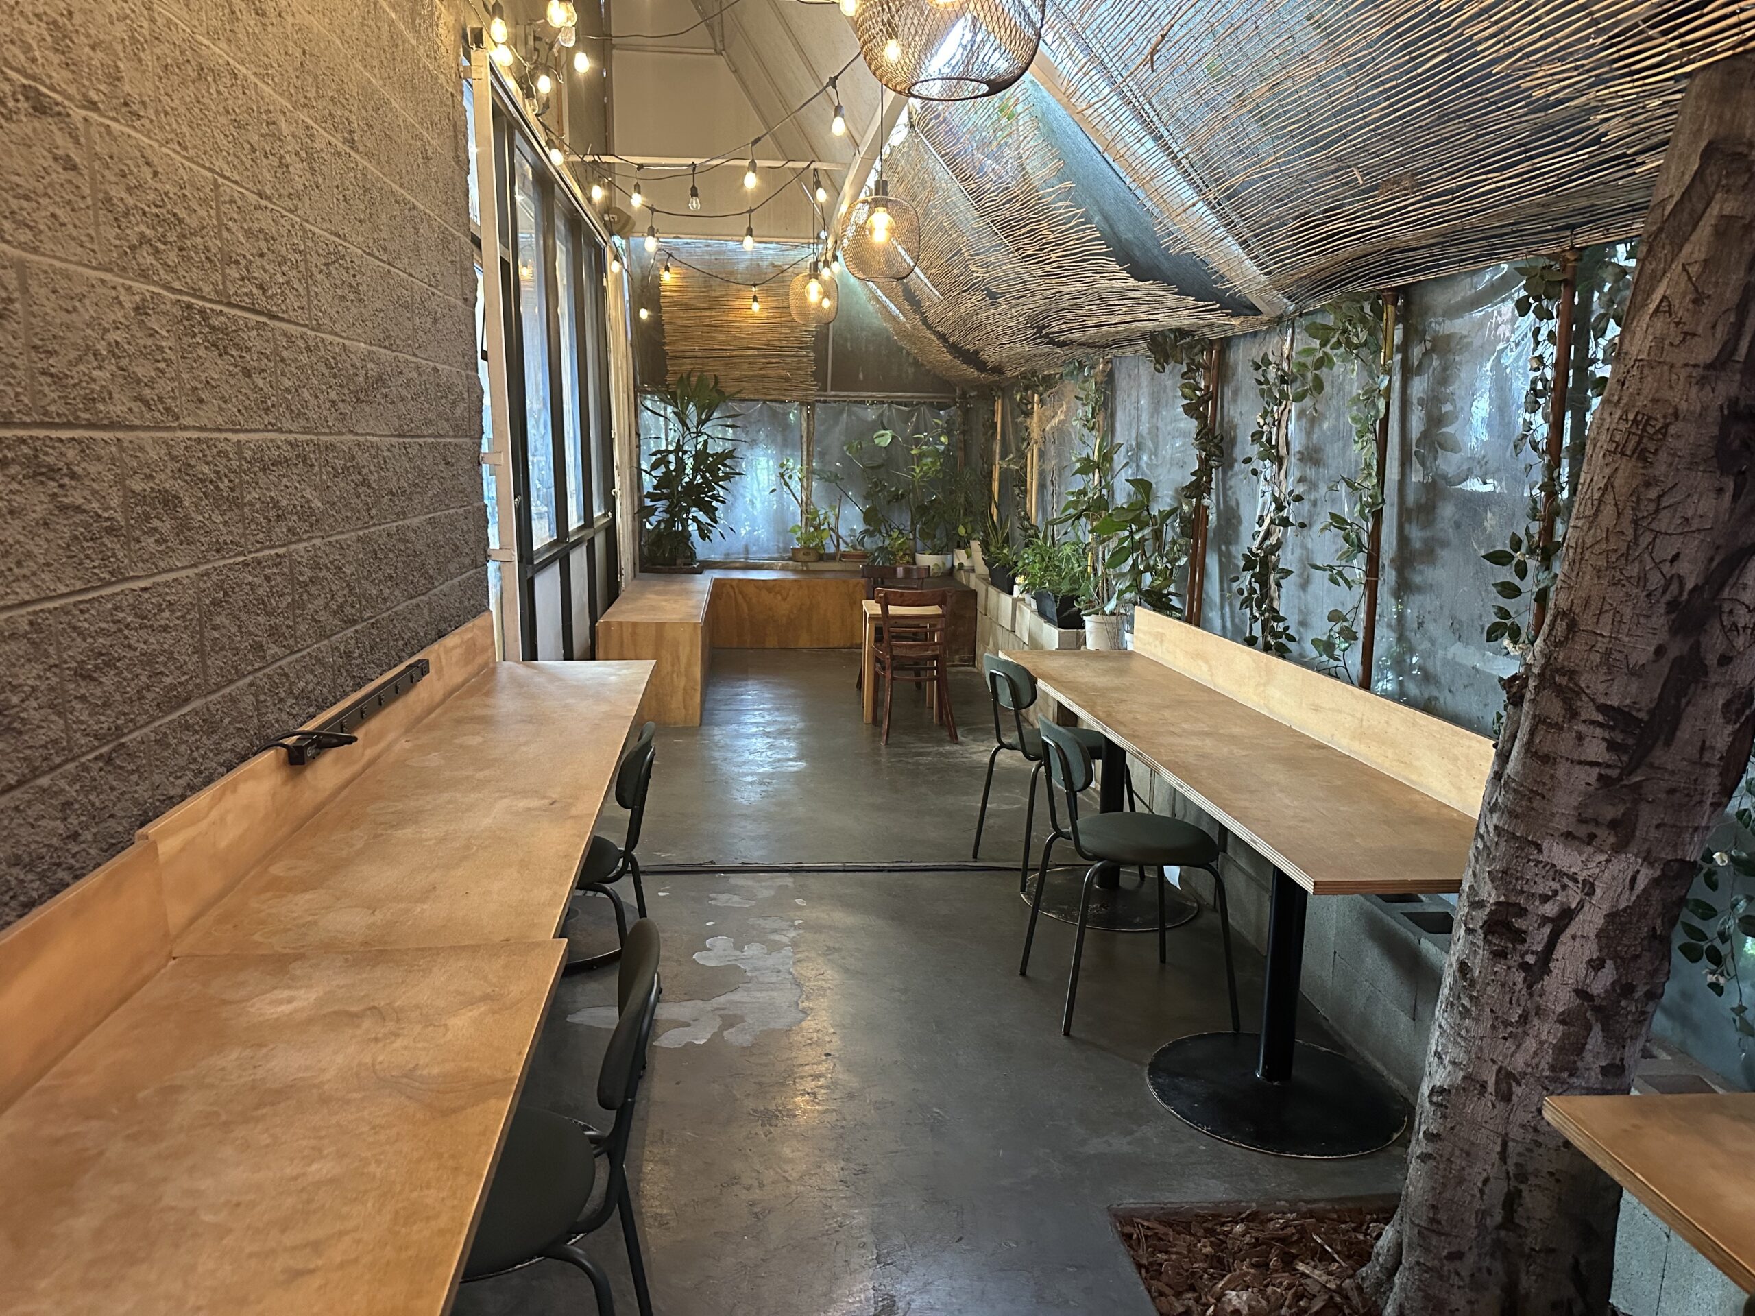
[[[1299,1042],[1292,1077],[1255,1077],[1257,1033],[1195,1033],[1146,1065],[1151,1095],[1223,1142],[1274,1156],[1364,1156],[1408,1126],[1408,1105],[1346,1056]]]

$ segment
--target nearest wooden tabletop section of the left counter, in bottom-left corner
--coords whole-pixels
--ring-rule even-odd
[[[172,962],[0,1114],[0,1312],[446,1311],[563,951]]]

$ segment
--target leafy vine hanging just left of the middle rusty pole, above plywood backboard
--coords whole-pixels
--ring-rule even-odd
[[[1313,339],[1299,349],[1299,367],[1313,383],[1311,391],[1322,393],[1323,372],[1336,361],[1350,365],[1358,388],[1346,402],[1346,418],[1353,426],[1353,453],[1358,458],[1357,476],[1341,476],[1329,490],[1341,495],[1341,509],[1329,512],[1323,530],[1341,537],[1334,561],[1314,563],[1330,584],[1344,590],[1348,604],[1329,609],[1329,630],[1311,639],[1311,649],[1329,663],[1330,672],[1353,679],[1348,654],[1358,644],[1358,614],[1365,605],[1365,554],[1371,544],[1371,523],[1383,507],[1383,472],[1378,470],[1378,425],[1390,395],[1390,377],[1383,367],[1383,298],[1344,297],[1318,312],[1304,332]]]

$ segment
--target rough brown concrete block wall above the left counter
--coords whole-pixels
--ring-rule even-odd
[[[486,607],[460,23],[0,42],[0,925]]]

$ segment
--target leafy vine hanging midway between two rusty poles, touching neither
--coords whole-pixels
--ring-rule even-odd
[[[1260,491],[1255,532],[1243,551],[1237,574],[1230,577],[1250,623],[1243,642],[1281,658],[1292,653],[1299,637],[1292,633],[1292,625],[1279,611],[1279,586],[1292,576],[1290,569],[1279,565],[1279,554],[1285,549],[1286,532],[1306,528],[1292,511],[1304,502],[1304,495],[1292,488],[1286,472],[1292,456],[1292,405],[1313,391],[1322,391],[1322,375],[1300,370],[1293,351],[1297,332],[1293,319],[1286,326],[1286,346],[1279,353],[1269,347],[1250,363],[1255,388],[1262,397],[1262,411],[1255,418],[1255,428],[1250,430],[1250,451],[1244,454],[1243,468],[1260,479]]]

